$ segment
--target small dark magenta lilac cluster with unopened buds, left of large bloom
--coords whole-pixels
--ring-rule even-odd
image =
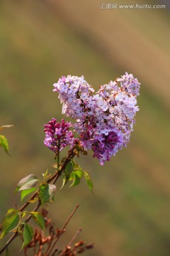
[[[48,124],[45,124],[45,146],[48,146],[55,154],[61,151],[65,146],[74,143],[74,135],[72,131],[69,131],[69,127],[72,124],[69,122],[56,122],[55,118],[52,118]]]

